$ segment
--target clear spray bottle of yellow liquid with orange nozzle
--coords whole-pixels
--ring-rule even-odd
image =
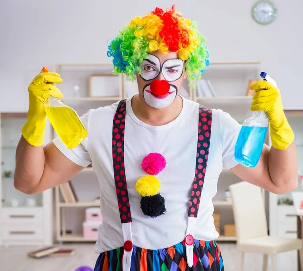
[[[41,72],[48,73],[48,68],[43,67]],[[77,147],[86,138],[88,132],[76,111],[60,99],[49,97],[45,101],[45,111],[54,130],[67,148]]]

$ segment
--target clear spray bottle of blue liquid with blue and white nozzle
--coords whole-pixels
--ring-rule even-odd
[[[276,82],[265,72],[261,72],[263,80],[277,86]],[[268,115],[264,111],[255,111],[247,118],[240,130],[236,146],[235,159],[246,167],[255,167],[261,156],[268,127]]]

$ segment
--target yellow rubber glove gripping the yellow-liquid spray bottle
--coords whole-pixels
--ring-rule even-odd
[[[63,97],[61,91],[54,83],[61,83],[62,79],[57,73],[40,73],[28,87],[29,109],[27,121],[21,129],[25,140],[32,146],[44,144],[44,130],[46,126],[45,101],[50,97]]]

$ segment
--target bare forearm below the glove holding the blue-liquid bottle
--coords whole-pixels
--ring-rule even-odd
[[[294,142],[285,150],[271,147],[268,167],[271,179],[281,193],[293,191],[298,185],[297,152]]]

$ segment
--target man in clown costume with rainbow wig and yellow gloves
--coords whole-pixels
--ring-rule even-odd
[[[100,184],[103,222],[95,244],[95,271],[224,270],[216,242],[212,198],[223,166],[273,193],[297,186],[294,134],[279,89],[267,81],[251,110],[269,116],[272,147],[256,167],[234,158],[241,126],[226,112],[183,98],[206,70],[208,50],[195,22],[175,7],[133,18],[111,41],[114,73],[138,85],[138,94],[81,117],[88,135],[73,149],[60,138],[43,147],[49,96],[62,98],[57,73],[30,84],[29,111],[16,151],[15,187],[40,193],[92,164]]]

